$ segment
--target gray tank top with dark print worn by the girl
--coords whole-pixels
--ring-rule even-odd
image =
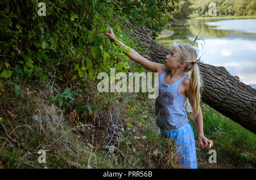
[[[163,79],[167,72],[166,68],[159,76],[159,95],[155,100],[156,123],[161,130],[175,130],[188,123],[185,110],[187,96],[179,94],[180,84],[188,76],[184,75],[174,83],[165,84]]]

